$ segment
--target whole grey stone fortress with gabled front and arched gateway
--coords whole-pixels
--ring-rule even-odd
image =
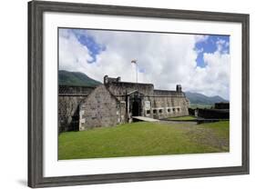
[[[176,91],[154,89],[152,84],[121,82],[104,76],[97,87],[59,85],[59,133],[130,123],[134,116],[164,119],[189,115],[189,100]]]

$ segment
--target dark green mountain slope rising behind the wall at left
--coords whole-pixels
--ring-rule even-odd
[[[70,86],[97,86],[100,82],[88,77],[80,72],[68,72],[66,70],[58,71],[58,85]]]

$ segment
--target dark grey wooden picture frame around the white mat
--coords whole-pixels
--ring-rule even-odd
[[[45,12],[126,15],[241,23],[242,28],[242,165],[123,174],[60,177],[43,175],[43,14]],[[28,186],[107,184],[148,180],[249,174],[249,15],[117,5],[31,1],[28,3]]]

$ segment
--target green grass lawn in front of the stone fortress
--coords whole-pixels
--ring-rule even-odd
[[[229,122],[120,124],[58,137],[58,159],[229,151]]]

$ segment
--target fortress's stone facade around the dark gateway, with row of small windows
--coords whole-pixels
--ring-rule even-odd
[[[139,104],[139,112],[141,116],[163,119],[189,115],[189,100],[181,91],[181,85],[178,85],[179,87],[177,87],[179,91],[154,90],[154,85],[126,82],[113,82],[107,86],[108,90],[112,94],[115,94],[119,101],[128,102],[128,118],[131,118],[133,114],[132,103],[127,99],[127,96],[129,96],[128,98],[131,98],[136,91],[138,94],[143,94],[141,103]],[[149,104],[150,107],[146,107],[145,104]]]

